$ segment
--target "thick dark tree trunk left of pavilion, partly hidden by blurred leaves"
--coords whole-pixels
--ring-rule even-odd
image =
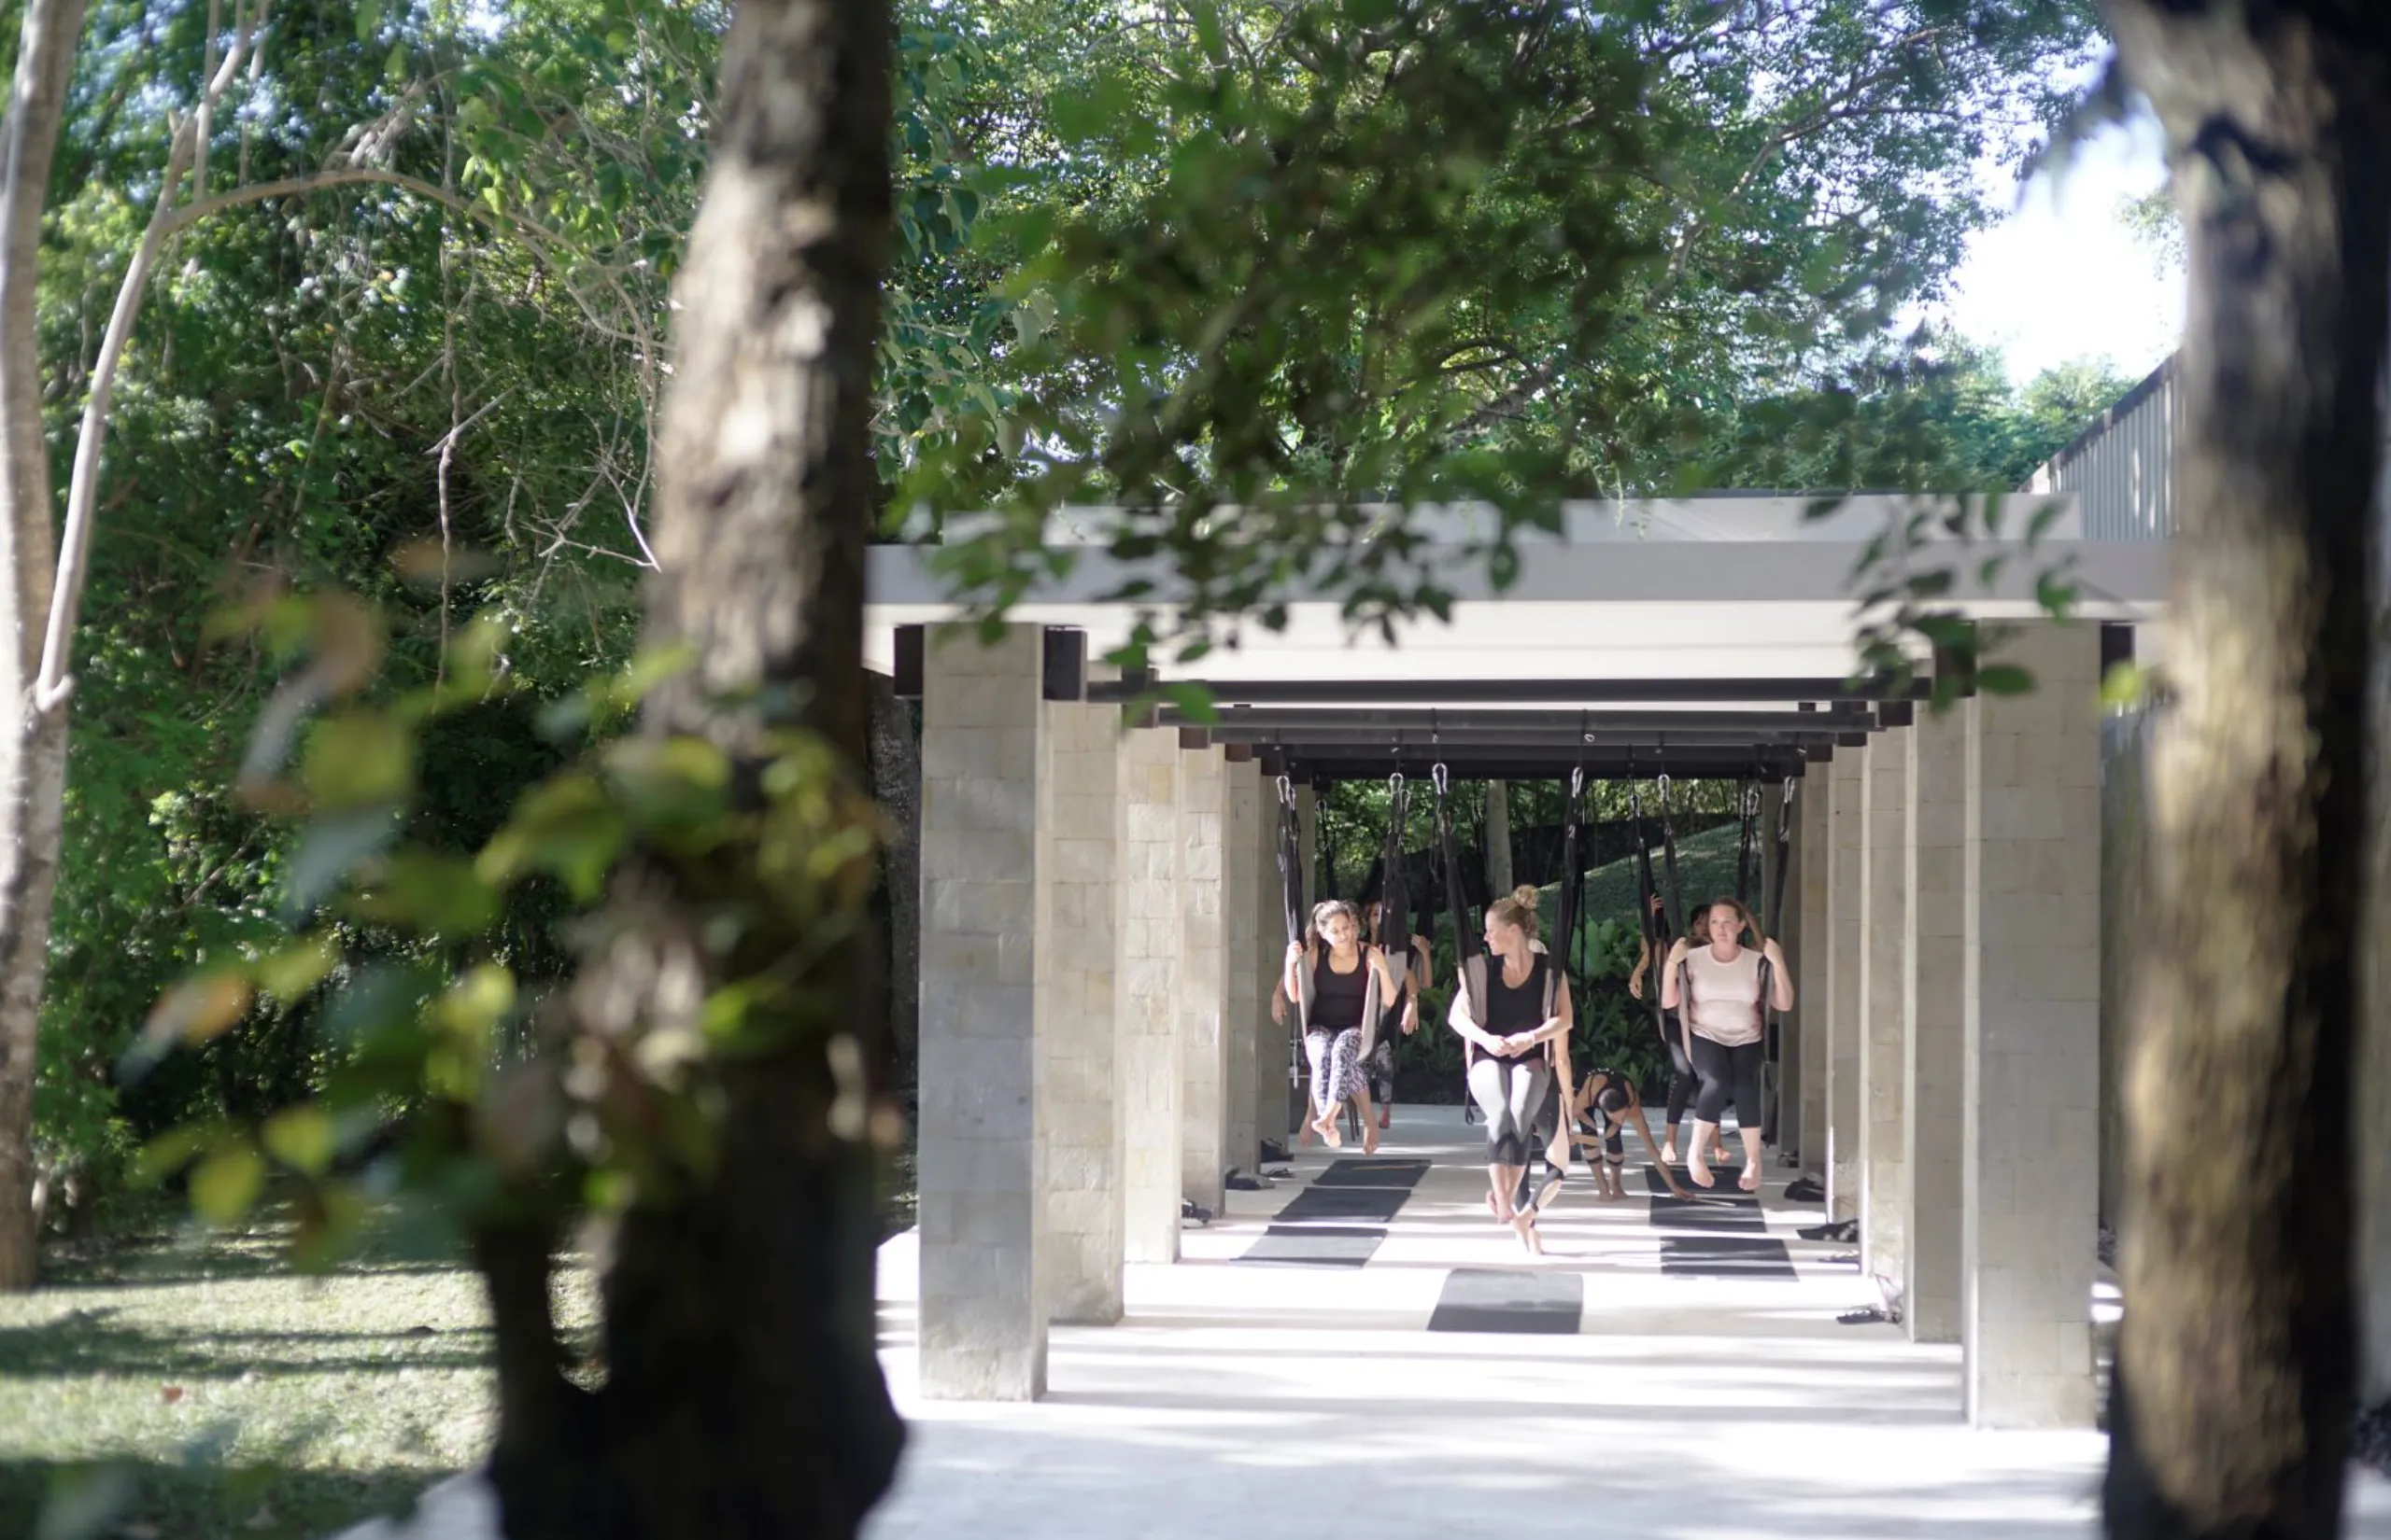
[[[650,697],[646,726],[722,745],[734,786],[791,726],[863,783],[889,60],[877,0],[746,0],[722,45],[717,148],[674,287],[648,590],[648,640],[689,645],[696,666]],[[820,960],[784,1003],[751,1008],[751,1029],[775,1015],[724,1072],[713,1177],[624,1218],[588,1416],[557,1413],[581,1402],[543,1368],[528,1265],[490,1270],[493,1306],[507,1280],[526,1301],[495,1311],[516,1373],[493,1478],[516,1540],[846,1538],[894,1476],[904,1433],[875,1359],[877,1220],[851,1113],[856,1065],[885,1053],[877,960],[811,948],[775,912],[722,948],[693,900],[660,860],[619,874],[574,984],[583,1022],[686,1020],[734,969]]]

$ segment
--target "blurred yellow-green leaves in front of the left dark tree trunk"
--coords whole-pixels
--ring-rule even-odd
[[[285,1196],[296,1256],[318,1265],[402,1177],[402,1201],[442,1225],[552,1234],[703,1179],[722,1077],[820,1020],[815,965],[854,941],[873,881],[873,814],[832,750],[782,733],[734,778],[703,738],[614,735],[679,666],[643,654],[540,714],[550,738],[583,750],[461,848],[418,769],[442,728],[512,692],[502,621],[478,616],[442,678],[397,690],[368,690],[383,637],[351,599],[277,597],[244,621],[294,664],[282,697],[328,707],[304,738],[287,731],[294,714],[268,712],[287,726],[261,731],[241,786],[251,805],[299,819],[282,891],[294,926],[177,984],[132,1058],[139,1072],[244,1017],[258,1031],[261,1015],[320,1010],[328,1060],[280,1108],[163,1134],[143,1170],[186,1175],[215,1225]],[[701,895],[679,943],[724,957],[729,974],[665,1020],[612,1020],[603,1003],[550,993],[552,953],[519,945],[514,905],[555,903],[552,883],[567,912],[595,910],[634,860]],[[849,1136],[863,1132],[861,1091],[854,1120]]]

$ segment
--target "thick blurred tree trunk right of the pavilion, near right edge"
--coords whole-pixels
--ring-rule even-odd
[[[2190,244],[2106,1523],[2334,1535],[2391,21],[2109,0]]]

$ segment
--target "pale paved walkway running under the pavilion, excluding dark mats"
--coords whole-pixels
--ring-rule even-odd
[[[1822,1215],[1784,1201],[1788,1172],[1765,1220],[1655,1215],[1631,1160],[1631,1199],[1573,1182],[1528,1263],[1487,1218],[1482,1148],[1459,1108],[1399,1110],[1380,1156],[1430,1172],[1382,1225],[1329,1218],[1384,1230],[1368,1265],[1241,1261],[1329,1163],[1298,1153],[1294,1182],[1191,1230],[1184,1263],[1131,1268],[1121,1325],[1057,1328],[1031,1406],[916,1394],[918,1268],[897,1237],[882,1363],[913,1442],[868,1540],[2097,1535],[2102,1437],[1973,1433],[1956,1347],[1839,1325],[1875,1294],[1834,1261],[1848,1246],[1793,1234]],[[1750,1256],[1755,1234],[1791,1268]],[[1576,1332],[1430,1330],[1473,1268],[1580,1289]],[[2391,1538],[2391,1487],[2353,1497],[2350,1533]]]

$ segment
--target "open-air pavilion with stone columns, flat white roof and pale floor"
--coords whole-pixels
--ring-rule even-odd
[[[916,1442],[873,1533],[2095,1533],[2104,740],[2130,738],[2097,680],[2164,649],[2164,523],[2051,497],[2032,552],[1985,587],[1977,547],[1951,592],[2016,623],[2040,688],[1946,714],[1853,683],[1853,566],[1901,499],[1576,506],[1502,595],[1442,513],[1451,623],[1389,647],[1294,595],[1191,671],[1203,726],[1124,726],[1145,680],[1088,664],[1133,618],[1100,552],[995,645],[937,630],[918,552],[873,552],[868,652],[923,709],[921,1222],[882,1249]],[[2032,599],[2056,563],[2078,623]],[[1530,1261],[1482,1134],[1408,1105],[1377,1160],[1224,1191],[1289,1144],[1277,781],[1435,764],[1793,797],[1757,1201],[1580,1182]],[[1858,1244],[1798,1234],[1832,1220]],[[1886,1299],[1898,1323],[1836,1320]],[[2360,1528],[2391,1533],[2377,1487]]]

